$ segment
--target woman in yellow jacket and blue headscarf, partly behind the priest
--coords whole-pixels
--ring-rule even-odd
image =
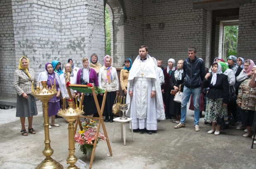
[[[124,60],[124,63],[125,63],[125,67],[121,70],[121,73],[120,73],[120,84],[121,84],[121,88],[122,88],[124,94],[126,95],[129,71],[130,71],[130,68],[132,67],[133,63],[130,58],[126,58]]]

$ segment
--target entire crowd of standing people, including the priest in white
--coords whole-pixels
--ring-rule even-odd
[[[22,135],[26,136],[25,117],[29,120],[29,133],[35,134],[32,128],[33,116],[37,115],[36,101],[31,95],[31,82],[38,86],[39,81],[47,81],[48,88],[56,80],[58,93],[49,102],[51,126],[55,123],[55,115],[60,109],[60,101],[68,98],[65,84],[93,83],[107,91],[104,106],[105,122],[113,122],[112,106],[119,94],[119,79],[116,68],[112,65],[111,56],[104,57],[104,66],[98,62],[97,54],[92,54],[90,60],[82,59],[82,68],[74,66],[72,59],[65,63],[62,71],[59,61],[46,63],[45,71],[35,77],[29,68],[29,60],[23,56],[19,60],[19,69],[14,72],[14,89],[17,91],[17,117],[22,124]],[[190,109],[194,110],[195,131],[200,131],[199,118],[205,111],[205,124],[211,123],[208,134],[220,134],[220,117],[233,116],[236,122],[242,122],[241,127],[246,134],[252,136],[252,123],[256,103],[256,66],[254,61],[235,56],[228,56],[227,63],[215,58],[211,68],[205,68],[203,59],[196,57],[196,48],[188,48],[188,58],[179,60],[177,66],[174,59],[168,60],[167,68],[162,67],[162,61],[148,54],[147,46],[139,48],[139,55],[132,62],[125,59],[125,67],[121,70],[120,83],[123,94],[126,95],[128,110],[126,116],[131,121],[133,131],[146,131],[152,134],[157,131],[158,120],[173,119],[179,129],[186,126],[186,105],[191,98]],[[210,72],[210,73],[209,73]],[[174,101],[177,92],[183,92],[181,103]],[[79,100],[80,92],[71,89],[72,97]],[[233,94],[232,99],[230,94]],[[102,98],[102,94],[98,95]],[[235,97],[235,98],[234,98]],[[75,100],[75,99],[74,99]],[[206,105],[204,106],[204,102]],[[97,113],[91,94],[85,94],[85,115]],[[68,104],[66,104],[68,105]],[[130,126],[131,128],[131,126]]]

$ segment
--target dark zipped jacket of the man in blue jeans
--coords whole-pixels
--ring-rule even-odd
[[[195,57],[194,60],[186,59],[183,63],[183,70],[185,72],[185,86],[190,89],[200,87],[201,80],[204,79],[205,66],[202,60]]]

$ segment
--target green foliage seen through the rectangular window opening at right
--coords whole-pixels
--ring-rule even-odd
[[[238,26],[224,27],[224,51],[223,58],[230,55],[237,56]]]

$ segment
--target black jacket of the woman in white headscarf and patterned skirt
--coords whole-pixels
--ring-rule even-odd
[[[228,103],[229,102],[229,83],[227,80],[227,75],[224,74],[217,74],[217,80],[216,84],[213,86],[211,84],[213,75],[211,74],[210,77],[208,77],[208,80],[204,78],[203,80],[203,86],[209,87],[209,91],[207,94],[207,97],[209,99],[223,99],[222,103]]]

